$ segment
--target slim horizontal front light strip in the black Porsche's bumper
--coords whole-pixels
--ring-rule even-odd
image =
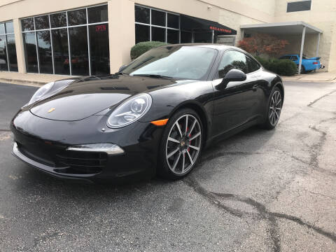
[[[66,151],[104,152],[108,155],[122,154],[125,151],[116,144],[80,144],[66,148]]]

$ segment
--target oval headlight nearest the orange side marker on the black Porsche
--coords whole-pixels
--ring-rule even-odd
[[[119,105],[107,120],[111,128],[124,127],[139,120],[151,108],[152,97],[149,94],[139,94]]]

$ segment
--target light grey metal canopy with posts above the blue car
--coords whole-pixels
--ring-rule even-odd
[[[265,23],[265,24],[258,24],[258,25],[241,25],[240,27],[244,34],[251,32],[251,33],[262,33],[262,34],[286,34],[286,35],[301,35],[301,48],[300,48],[300,62],[299,66],[297,67],[297,71],[301,73],[302,67],[302,54],[304,48],[304,37],[306,34],[317,34],[317,46],[316,46],[316,57],[318,57],[318,47],[320,45],[320,38],[323,31],[318,29],[312,25],[307,24],[306,22],[302,21],[295,21],[295,22],[277,22],[277,23]]]

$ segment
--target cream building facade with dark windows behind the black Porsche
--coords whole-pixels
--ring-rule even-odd
[[[334,0],[3,0],[0,71],[114,73],[141,41],[235,45],[251,35],[244,25],[290,21],[318,28],[306,34],[303,52],[318,48],[325,71],[336,71]],[[301,33],[275,35],[290,42],[287,52],[300,52]]]

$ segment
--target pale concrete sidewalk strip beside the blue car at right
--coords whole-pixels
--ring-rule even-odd
[[[336,71],[296,74],[295,76],[281,76],[281,78],[289,81],[336,83]]]

